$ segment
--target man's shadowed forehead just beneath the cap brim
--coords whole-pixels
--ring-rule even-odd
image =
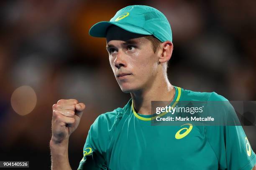
[[[107,30],[107,42],[111,40],[135,40],[135,41],[146,41],[147,39],[144,38],[146,35],[136,34],[133,32],[126,31],[116,25],[111,25]]]

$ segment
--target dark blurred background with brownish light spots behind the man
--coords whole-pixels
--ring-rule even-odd
[[[123,107],[105,39],[90,27],[127,5],[149,5],[168,18],[173,85],[215,91],[228,100],[256,100],[255,0],[10,0],[0,2],[0,160],[50,169],[52,105],[76,98],[87,105],[69,143],[73,169],[95,118]],[[256,127],[243,127],[256,151]]]

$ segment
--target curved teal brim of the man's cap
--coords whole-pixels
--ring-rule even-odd
[[[133,32],[136,34],[152,35],[150,32],[148,32],[148,31],[144,30],[143,28],[140,28],[136,25],[132,25],[129,23],[110,22],[110,21],[101,21],[99,23],[96,23],[89,30],[89,34],[92,37],[106,37],[107,29],[110,25],[116,25],[126,31]]]

